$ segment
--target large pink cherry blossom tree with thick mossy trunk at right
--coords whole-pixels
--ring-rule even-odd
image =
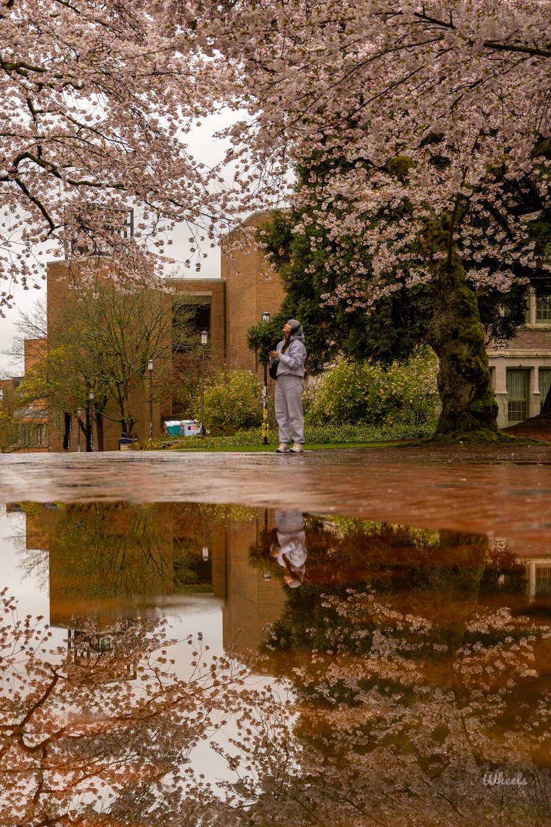
[[[329,304],[369,318],[430,284],[439,432],[495,431],[476,296],[549,269],[531,229],[549,216],[549,2],[201,5],[211,70],[248,110],[228,132],[241,186],[256,180],[265,205],[301,165],[295,229],[333,246]]]

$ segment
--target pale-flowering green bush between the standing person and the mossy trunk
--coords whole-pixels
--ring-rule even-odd
[[[306,393],[306,419],[325,423],[420,424],[435,420],[438,360],[423,350],[388,368],[339,361]]]

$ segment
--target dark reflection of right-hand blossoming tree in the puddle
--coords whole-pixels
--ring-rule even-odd
[[[549,824],[551,630],[481,593],[486,538],[314,520],[306,543],[264,662],[295,700],[240,741],[243,823]]]

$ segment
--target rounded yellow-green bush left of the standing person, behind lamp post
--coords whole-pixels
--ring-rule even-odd
[[[193,416],[201,417],[201,395],[193,402]],[[212,434],[235,433],[262,421],[262,386],[249,370],[220,370],[205,386],[203,423]]]

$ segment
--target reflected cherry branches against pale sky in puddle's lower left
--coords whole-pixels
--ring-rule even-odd
[[[159,621],[52,648],[41,620],[2,593],[2,827],[198,824],[211,791],[189,759],[245,670],[190,639],[179,678]]]

